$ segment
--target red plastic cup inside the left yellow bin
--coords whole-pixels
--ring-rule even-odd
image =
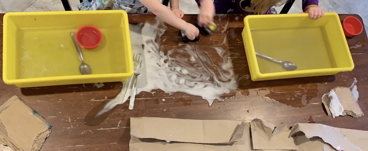
[[[100,45],[102,34],[98,28],[86,25],[78,29],[76,38],[81,47],[85,49],[93,49]]]

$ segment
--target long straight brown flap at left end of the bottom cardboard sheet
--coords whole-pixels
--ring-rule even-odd
[[[242,137],[242,134],[240,136],[234,135],[239,126],[239,122],[233,121],[131,118],[131,135],[168,142],[229,144]],[[217,132],[211,133],[212,131]]]

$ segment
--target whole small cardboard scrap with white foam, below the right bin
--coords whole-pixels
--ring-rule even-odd
[[[364,113],[355,98],[349,88],[335,87],[322,96],[322,103],[327,114],[333,118],[346,115],[359,118]]]

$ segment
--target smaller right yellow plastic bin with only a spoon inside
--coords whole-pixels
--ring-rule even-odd
[[[253,81],[335,75],[354,68],[334,12],[317,20],[308,14],[248,15],[244,25],[242,38]],[[256,57],[255,52],[290,61],[297,69],[286,71],[281,64]]]

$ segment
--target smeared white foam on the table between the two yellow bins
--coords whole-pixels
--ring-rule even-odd
[[[226,99],[220,97],[222,94],[237,89],[230,53],[225,53],[222,48],[202,50],[194,45],[182,44],[165,54],[160,44],[160,37],[166,29],[163,22],[130,25],[130,29],[132,51],[139,54],[140,58],[144,58],[143,69],[137,80],[136,94],[152,93],[157,89],[170,95],[183,92],[201,96],[212,105],[216,99],[218,101]],[[218,56],[210,56],[209,51],[217,52]],[[123,82],[122,91],[106,103],[96,117],[128,100],[131,91],[129,80]]]

